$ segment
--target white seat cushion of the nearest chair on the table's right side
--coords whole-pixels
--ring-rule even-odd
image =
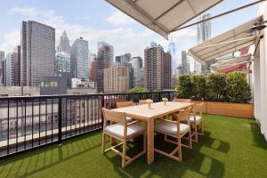
[[[190,125],[180,123],[180,133],[185,134],[190,130]],[[177,134],[177,125],[168,121],[160,121],[155,125],[158,133]]]

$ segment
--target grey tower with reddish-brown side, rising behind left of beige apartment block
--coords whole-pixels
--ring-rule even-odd
[[[98,92],[104,92],[104,69],[108,69],[113,65],[113,58],[113,46],[105,42],[99,42],[96,58],[96,83]]]

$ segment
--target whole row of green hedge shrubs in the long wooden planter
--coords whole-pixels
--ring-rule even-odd
[[[231,72],[180,76],[176,86],[178,98],[190,98],[198,101],[229,101],[246,103],[251,100],[250,86],[246,74]]]

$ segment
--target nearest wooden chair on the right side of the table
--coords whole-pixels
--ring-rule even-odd
[[[176,161],[182,161],[182,146],[188,149],[192,149],[191,132],[190,132],[190,109],[183,109],[179,113],[175,114],[176,121],[162,120],[155,125],[155,132],[165,135],[165,141],[171,142],[177,145],[171,153],[166,153],[162,150],[155,149],[159,154],[166,157],[173,158]],[[184,122],[184,123],[182,123]],[[184,145],[181,139],[188,134],[188,145]],[[177,142],[167,139],[167,136],[177,139]],[[175,156],[178,153],[178,156]]]

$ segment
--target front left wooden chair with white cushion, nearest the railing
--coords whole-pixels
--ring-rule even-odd
[[[116,112],[109,109],[102,108],[104,123],[103,123],[103,134],[102,134],[102,154],[105,154],[109,150],[113,150],[119,156],[122,157],[122,167],[128,166],[136,158],[142,157],[146,153],[146,129],[142,125],[135,125],[139,121],[134,121],[132,123],[127,123],[126,116],[124,112]],[[114,123],[119,123],[115,125],[107,126],[107,121],[112,121]],[[130,139],[143,134],[143,150],[134,158],[126,156],[126,144]],[[111,146],[109,149],[105,149],[106,135],[117,139],[120,143]],[[123,145],[123,151],[120,152],[116,148]]]

